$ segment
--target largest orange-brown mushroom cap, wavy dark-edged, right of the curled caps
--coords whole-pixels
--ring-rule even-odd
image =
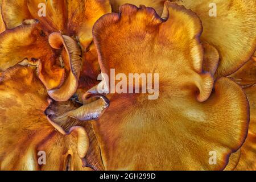
[[[166,20],[153,9],[123,5],[94,25],[103,73],[159,73],[158,100],[110,94],[109,108],[93,122],[108,170],[224,169],[246,138],[245,93],[229,78],[213,83],[202,69],[200,19],[165,5]],[[209,164],[210,151],[218,154],[216,165]]]

